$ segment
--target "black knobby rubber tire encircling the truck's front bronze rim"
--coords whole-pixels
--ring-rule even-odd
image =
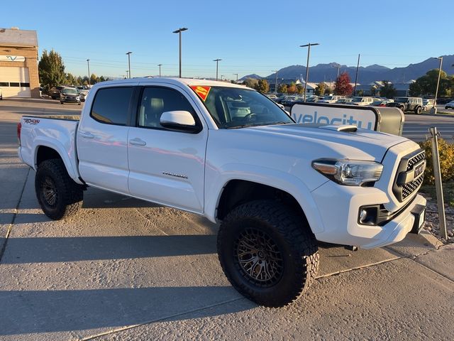
[[[250,231],[269,237],[282,257],[282,274],[267,285],[258,283],[241,265],[238,240]],[[272,200],[247,202],[228,213],[218,232],[217,247],[222,269],[232,286],[267,307],[282,307],[297,300],[319,269],[317,242],[304,217]]]

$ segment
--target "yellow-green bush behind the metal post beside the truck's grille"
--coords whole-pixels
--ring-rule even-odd
[[[419,146],[426,151],[427,167],[424,172],[423,185],[433,185],[432,144],[431,141],[420,142]],[[438,139],[438,153],[440,154],[441,180],[443,183],[454,180],[454,144]]]

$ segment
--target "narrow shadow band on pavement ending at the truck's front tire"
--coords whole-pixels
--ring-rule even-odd
[[[216,235],[9,238],[1,264],[215,254]]]

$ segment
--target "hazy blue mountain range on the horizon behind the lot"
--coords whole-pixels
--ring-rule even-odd
[[[448,75],[454,74],[454,55],[443,55],[442,70]],[[425,75],[428,70],[438,69],[440,60],[436,58],[428,58],[421,63],[410,64],[406,67],[394,67],[390,69],[382,65],[369,65],[366,67],[360,66],[358,68],[358,84],[369,84],[376,80],[389,80],[394,84],[409,82],[409,80],[416,80],[417,78]],[[329,64],[318,64],[316,66],[309,67],[309,82],[334,82],[337,76],[338,63]],[[350,75],[350,80],[355,82],[355,66],[341,65],[340,74],[347,72]],[[283,67],[278,70],[277,77],[284,80],[297,80],[304,79],[306,77],[306,67],[303,65],[291,65]],[[266,78],[269,82],[275,82],[276,74],[272,73],[266,77],[260,77],[258,75],[247,75],[240,78],[245,80],[246,78]]]

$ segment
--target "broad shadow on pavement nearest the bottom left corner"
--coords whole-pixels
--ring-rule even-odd
[[[0,335],[114,328],[167,318],[182,320],[184,313],[238,299],[239,294],[231,286],[0,291]],[[254,307],[248,302],[227,305],[217,313],[210,309],[203,313],[223,315]]]

